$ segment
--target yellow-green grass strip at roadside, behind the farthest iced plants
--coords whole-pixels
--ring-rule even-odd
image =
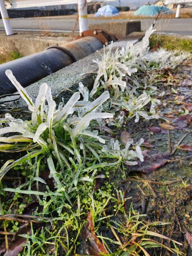
[[[150,47],[151,49],[165,48],[167,50],[183,50],[192,53],[192,40],[177,36],[152,35]]]

